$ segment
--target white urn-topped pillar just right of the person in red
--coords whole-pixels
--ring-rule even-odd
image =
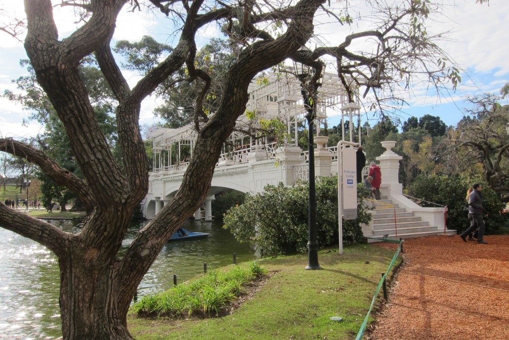
[[[399,183],[400,160],[402,156],[394,153],[391,149],[396,146],[393,140],[382,141],[382,146],[387,149],[376,159],[380,161],[380,170],[382,173],[381,189],[387,188],[396,193],[403,193],[403,185]],[[385,194],[387,195],[387,193]]]

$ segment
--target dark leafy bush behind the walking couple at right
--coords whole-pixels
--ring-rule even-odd
[[[468,214],[463,211],[465,196],[467,189],[474,183],[479,183],[483,187],[483,207],[488,211],[488,218],[485,218],[486,233],[494,232],[505,220],[501,213],[504,204],[500,201],[499,195],[482,180],[419,175],[410,185],[409,195],[423,200],[420,203],[422,207],[437,207],[424,201],[447,206],[447,228],[463,232],[470,225]]]

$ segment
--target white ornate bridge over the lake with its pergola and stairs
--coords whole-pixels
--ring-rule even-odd
[[[291,75],[275,77],[264,75],[264,81],[253,82],[249,91],[246,112],[256,119],[241,117],[238,130],[224,144],[223,153],[217,162],[211,187],[195,218],[212,219],[211,202],[217,193],[226,189],[256,194],[268,184],[279,182],[291,185],[298,179],[308,179],[308,153],[302,151],[297,141],[299,132],[305,127],[305,107],[302,101],[300,81]],[[262,85],[260,85],[262,84]],[[360,125],[358,103],[348,99],[340,79],[326,73],[319,89],[316,109],[315,175],[337,174],[337,147],[327,146],[328,137],[321,136],[321,127],[326,122],[326,110],[340,111],[341,126],[345,136],[345,120],[354,127],[353,117]],[[256,130],[262,120],[277,119],[286,126],[284,143],[276,137],[253,137],[239,131]],[[361,131],[358,126],[360,141]],[[195,140],[192,126],[179,129],[158,129],[149,137],[153,140],[153,172],[149,174],[149,191],[142,202],[143,215],[152,219],[161,208],[170,202],[182,182]],[[350,135],[352,141],[352,135]],[[403,195],[398,183],[401,156],[391,151],[395,142],[382,142],[387,149],[377,157],[382,170],[381,194],[383,200],[372,210],[373,221],[363,226],[366,237],[415,237],[422,235],[456,233],[448,231],[444,224],[443,208],[422,208]],[[345,146],[343,146],[345,147]]]

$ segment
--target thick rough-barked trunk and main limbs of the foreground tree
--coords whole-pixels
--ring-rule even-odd
[[[204,201],[221,146],[245,110],[249,82],[258,72],[284,61],[310,37],[313,14],[321,0],[301,0],[296,8],[301,14],[296,15],[287,34],[257,42],[239,55],[225,79],[216,114],[200,130],[181,189],[137,233],[120,257],[118,252],[133,209],[148,190],[147,157],[138,126],[140,102],[194,57],[194,34],[206,23],[198,15],[202,2],[192,2],[182,38],[172,55],[130,90],[109,49],[116,16],[126,2],[90,2],[93,15],[88,22],[59,41],[51,1],[25,1],[25,48],[38,82],[65,126],[84,179],[66,171],[40,150],[0,138],[2,150],[37,164],[56,183],[71,189],[88,212],[81,232],[73,235],[0,205],[0,221],[5,228],[47,246],[59,258],[65,339],[132,338],[127,330],[127,312],[136,288],[167,239]],[[228,11],[211,12],[201,18],[212,21],[227,14]],[[80,60],[93,51],[119,101],[116,115],[123,166],[111,154],[79,77]],[[188,65],[192,68],[193,61]]]

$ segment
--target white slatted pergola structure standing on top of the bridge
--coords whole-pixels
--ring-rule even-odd
[[[263,81],[260,81],[262,79]],[[326,119],[327,109],[341,110],[342,113],[342,136],[345,139],[345,119],[350,122],[350,131],[353,131],[353,120],[357,118],[359,125],[358,140],[361,140],[360,129],[360,104],[358,95],[355,93],[355,102],[348,101],[348,95],[341,82],[341,79],[333,73],[323,75],[322,85],[318,89],[318,100],[316,103],[316,131],[320,135]],[[279,119],[287,127],[291,140],[285,141],[287,145],[298,146],[299,123],[305,122],[306,109],[301,94],[301,82],[291,73],[264,73],[259,78],[253,79],[249,88],[249,101],[246,104],[246,111],[256,114],[257,118],[271,120]],[[257,122],[249,121],[247,115],[242,115],[236,126],[239,130],[249,130]],[[153,139],[154,164],[153,169],[157,171],[169,171],[173,168],[185,165],[182,159],[183,148],[190,148],[192,155],[196,131],[193,124],[178,129],[161,128],[149,134]],[[352,141],[350,133],[350,141]],[[266,138],[253,138],[251,135],[235,131],[229,138],[228,147],[223,149],[220,160],[232,159],[236,162],[246,161],[246,156],[253,149],[266,148],[271,140]],[[175,146],[175,147],[174,147]],[[274,148],[274,145],[267,147]],[[271,149],[272,150],[272,149]],[[187,154],[187,152],[186,152]]]

